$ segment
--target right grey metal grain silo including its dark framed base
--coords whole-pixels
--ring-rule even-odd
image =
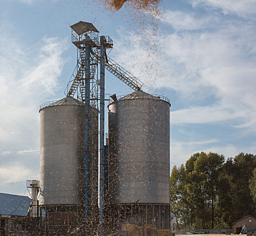
[[[170,101],[141,90],[109,109],[109,202],[119,222],[170,227]]]

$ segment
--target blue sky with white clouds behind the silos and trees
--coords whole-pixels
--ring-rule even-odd
[[[198,151],[256,153],[256,1],[164,0],[159,28],[130,7],[0,0],[0,191],[39,179],[39,105],[63,98],[76,64],[68,24],[93,22],[110,57],[171,100],[171,165]],[[132,92],[106,72],[106,92]]]

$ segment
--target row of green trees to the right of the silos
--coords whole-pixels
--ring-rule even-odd
[[[170,206],[178,229],[228,229],[243,216],[255,216],[256,156],[193,154],[172,168]]]

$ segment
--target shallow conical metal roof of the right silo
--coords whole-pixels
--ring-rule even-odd
[[[118,97],[118,101],[121,100],[133,100],[133,99],[151,99],[151,100],[163,100],[165,102],[170,103],[169,98],[161,95],[156,94],[148,94],[147,92],[144,92],[143,90],[136,90],[135,92],[132,92],[131,94],[128,94],[126,96],[120,96]]]

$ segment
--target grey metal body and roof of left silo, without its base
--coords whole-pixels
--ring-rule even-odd
[[[98,111],[90,111],[93,199],[98,188]],[[84,107],[67,97],[40,110],[41,205],[82,204],[84,194]]]

